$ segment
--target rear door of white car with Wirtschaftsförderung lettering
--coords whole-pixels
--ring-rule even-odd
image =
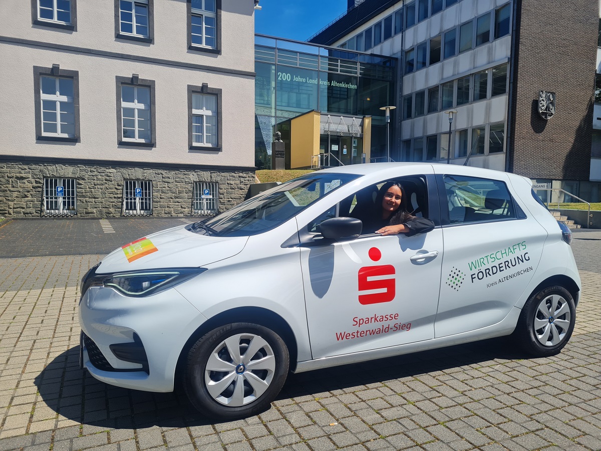
[[[445,242],[437,338],[486,328],[510,314],[547,236],[511,194],[506,174],[473,173],[437,176]]]

